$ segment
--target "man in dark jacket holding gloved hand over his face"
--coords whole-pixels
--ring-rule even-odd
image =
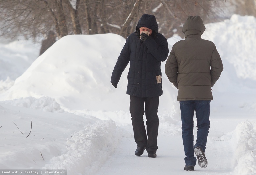
[[[117,88],[122,72],[130,62],[126,94],[130,95],[131,100],[130,113],[137,156],[142,155],[145,149],[148,157],[157,156],[157,110],[159,96],[163,93],[161,62],[167,59],[168,52],[167,40],[158,33],[155,16],[144,14],[139,19],[136,31],[127,38],[111,76],[111,83]]]

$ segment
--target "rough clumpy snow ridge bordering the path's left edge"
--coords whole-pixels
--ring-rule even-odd
[[[68,174],[96,173],[117,146],[120,134],[111,120],[87,125],[67,141],[67,152],[53,157],[42,169],[67,169]]]

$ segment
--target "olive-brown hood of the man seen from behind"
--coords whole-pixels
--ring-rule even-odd
[[[200,16],[189,16],[182,27],[182,32],[185,34],[185,37],[191,34],[202,35],[204,31],[205,26]]]

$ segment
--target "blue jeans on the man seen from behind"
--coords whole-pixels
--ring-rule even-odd
[[[207,136],[210,128],[210,100],[188,100],[180,101],[181,121],[182,121],[182,139],[185,151],[186,165],[196,165],[194,148],[200,147],[205,151]],[[197,118],[197,140],[194,145],[194,111]]]

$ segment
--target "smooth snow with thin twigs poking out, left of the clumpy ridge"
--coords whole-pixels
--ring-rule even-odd
[[[66,152],[67,139],[75,132],[88,125],[94,126],[95,132],[101,130],[100,125],[94,125],[98,121],[94,117],[42,112],[6,104],[1,104],[0,116],[0,169],[41,169],[53,157]],[[83,148],[89,147],[85,145]]]

